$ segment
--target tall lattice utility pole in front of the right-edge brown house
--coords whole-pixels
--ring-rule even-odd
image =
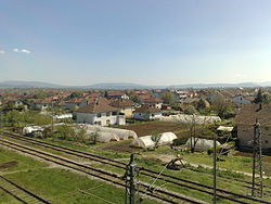
[[[257,196],[257,191],[259,196],[263,196],[262,190],[262,150],[261,150],[261,130],[260,124],[258,119],[254,125],[254,140],[253,140],[253,149],[254,149],[254,161],[253,161],[253,189],[251,196]],[[258,178],[257,178],[258,174]],[[258,188],[256,187],[258,186]]]

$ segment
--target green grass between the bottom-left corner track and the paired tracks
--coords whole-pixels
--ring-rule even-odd
[[[47,168],[47,163],[18,155],[0,148],[0,164],[17,161],[17,166],[1,168],[0,174],[34,193],[57,204],[122,203],[125,190],[62,168]],[[81,191],[91,193],[85,194]],[[17,204],[15,199],[0,190],[0,203]],[[144,204],[156,203],[145,200]]]

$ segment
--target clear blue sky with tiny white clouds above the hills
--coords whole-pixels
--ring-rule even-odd
[[[0,0],[0,81],[271,81],[270,0]]]

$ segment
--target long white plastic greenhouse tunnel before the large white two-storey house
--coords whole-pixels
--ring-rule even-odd
[[[130,138],[137,139],[138,135],[132,130],[119,129],[119,128],[109,128],[102,126],[93,126],[88,124],[80,124],[81,127],[87,129],[87,133],[98,133],[96,141],[99,142],[109,142],[109,141],[119,141],[128,140]]]

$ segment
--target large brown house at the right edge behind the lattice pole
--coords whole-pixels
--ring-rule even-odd
[[[262,151],[271,150],[271,104],[247,104],[240,110],[235,122],[241,149],[251,150],[254,125],[258,119],[261,129]]]

